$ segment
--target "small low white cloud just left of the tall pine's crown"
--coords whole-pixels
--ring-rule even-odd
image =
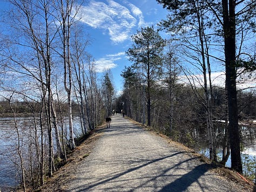
[[[95,61],[96,71],[104,72],[111,68],[117,67],[117,64],[114,63],[114,61],[122,59],[122,56],[124,55],[125,55],[125,52],[119,52],[116,54],[107,54],[106,57],[96,60]]]

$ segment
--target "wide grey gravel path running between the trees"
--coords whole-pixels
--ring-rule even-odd
[[[75,170],[68,191],[237,191],[241,186],[216,175],[197,157],[111,116],[93,152]],[[242,190],[239,190],[242,191]]]

